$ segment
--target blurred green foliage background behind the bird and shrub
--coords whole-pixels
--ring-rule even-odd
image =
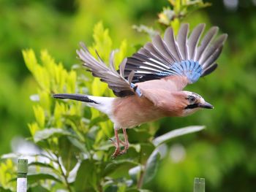
[[[256,1],[209,2],[211,7],[193,12],[183,22],[191,27],[216,25],[229,37],[219,69],[186,89],[215,108],[159,120],[157,135],[190,125],[207,128],[167,146],[157,177],[148,185],[152,191],[186,191],[194,177],[206,178],[206,191],[256,188]],[[0,0],[0,154],[12,150],[14,137],[29,137],[27,123],[34,119],[29,96],[37,92],[37,84],[26,69],[22,49],[47,49],[70,69],[80,64],[78,42],[91,45],[94,25],[101,20],[109,28],[113,47],[127,39],[131,55],[150,40],[132,25],[162,28],[157,14],[167,6],[166,0]]]

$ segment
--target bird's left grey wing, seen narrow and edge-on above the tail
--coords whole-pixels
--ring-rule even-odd
[[[94,58],[86,45],[80,43],[81,49],[77,50],[78,57],[83,61],[83,66],[89,68],[89,71],[94,75],[94,77],[99,77],[103,82],[107,82],[110,89],[116,96],[126,96],[135,94],[131,86],[134,86],[131,81],[133,77],[133,72],[130,72],[127,76],[127,80],[124,78],[124,66],[127,63],[127,59],[124,59],[119,66],[120,72],[118,73],[115,69],[113,58],[114,52],[110,54],[110,67],[102,61],[101,58],[98,60]]]

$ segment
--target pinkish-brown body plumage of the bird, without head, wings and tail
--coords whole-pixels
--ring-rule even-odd
[[[187,106],[181,91],[143,90],[143,97],[126,96],[113,101],[113,116],[117,128],[133,128],[163,117],[182,116]],[[184,99],[181,99],[181,96]]]

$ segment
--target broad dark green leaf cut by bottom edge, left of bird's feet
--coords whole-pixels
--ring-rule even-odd
[[[75,178],[75,191],[96,191],[98,182],[95,162],[89,159],[82,161]]]

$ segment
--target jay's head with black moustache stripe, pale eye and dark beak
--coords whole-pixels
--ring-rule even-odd
[[[190,115],[200,109],[214,109],[214,106],[206,102],[205,99],[197,93],[182,91],[181,98],[184,104],[183,116]]]

